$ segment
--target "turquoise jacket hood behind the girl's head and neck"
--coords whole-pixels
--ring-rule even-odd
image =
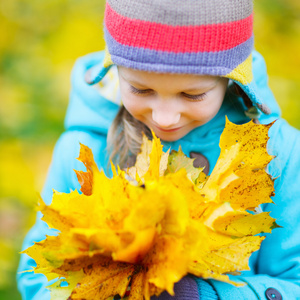
[[[268,108],[265,109],[265,113],[261,111],[259,116],[259,121],[267,124],[280,117],[280,108],[268,88],[264,59],[256,51],[252,53],[252,57],[254,80],[250,87],[242,88],[254,107],[261,110],[259,106],[263,105]],[[99,70],[101,71],[103,68],[103,59],[104,51],[101,51],[88,54],[76,61],[71,76],[70,103],[65,119],[66,129],[90,130],[107,134],[120,107],[117,68],[113,66],[100,85],[90,85],[87,79],[87,76],[99,74]],[[107,71],[104,70],[103,74],[106,74]],[[196,129],[197,138],[209,134],[215,129],[223,130],[225,115],[236,124],[249,121],[250,118],[244,113],[246,110],[247,107],[242,99],[230,93],[229,88],[218,114],[207,124]]]

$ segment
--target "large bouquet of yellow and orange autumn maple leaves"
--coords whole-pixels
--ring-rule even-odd
[[[24,251],[37,263],[34,272],[60,278],[51,298],[105,300],[130,290],[130,300],[149,300],[174,294],[188,273],[235,284],[226,273],[249,269],[264,239],[258,234],[277,227],[268,212],[254,213],[272,202],[270,126],[227,120],[209,177],[181,150],[164,153],[155,136],[144,137],[134,167],[112,166],[111,179],[81,145],[82,194],[54,192],[51,205],[40,201],[43,220],[59,234]]]

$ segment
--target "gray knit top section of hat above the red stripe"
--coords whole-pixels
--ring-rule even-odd
[[[251,15],[253,0],[107,0],[130,19],[173,26],[219,24]]]

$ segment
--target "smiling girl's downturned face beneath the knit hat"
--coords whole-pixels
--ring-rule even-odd
[[[128,112],[164,141],[175,141],[219,111],[228,79],[149,73],[119,67],[122,101]]]

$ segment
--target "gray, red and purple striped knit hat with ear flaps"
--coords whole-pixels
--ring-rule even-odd
[[[261,108],[252,75],[252,0],[107,0],[104,33],[106,58],[90,84],[112,64],[223,76]]]

